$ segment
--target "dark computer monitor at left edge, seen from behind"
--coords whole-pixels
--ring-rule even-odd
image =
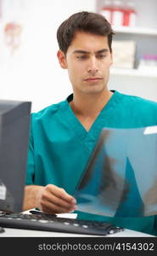
[[[31,102],[0,100],[0,211],[21,212]]]

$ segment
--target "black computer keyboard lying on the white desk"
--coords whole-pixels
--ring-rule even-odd
[[[96,236],[107,236],[124,230],[121,227],[116,227],[115,225],[107,222],[59,218],[47,213],[5,213],[0,216],[0,225],[14,229],[46,230]]]

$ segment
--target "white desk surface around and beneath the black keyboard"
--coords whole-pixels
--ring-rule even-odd
[[[29,211],[25,211],[24,213],[29,213]],[[76,218],[76,213],[63,213],[57,214],[58,217],[64,218]],[[9,229],[4,228],[4,232],[0,233],[0,237],[64,237],[64,236],[76,236],[76,237],[89,237],[88,235],[84,234],[72,234],[72,233],[61,233],[61,232],[52,232],[52,231],[40,231],[40,230],[21,230],[21,229]],[[108,237],[154,237],[149,234],[145,234],[142,232],[137,232],[133,230],[124,230],[112,235],[108,235]],[[90,237],[92,237],[90,235]]]

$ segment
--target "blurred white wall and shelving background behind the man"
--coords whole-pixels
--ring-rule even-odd
[[[36,112],[72,92],[56,32],[82,10],[115,31],[109,89],[157,101],[156,0],[0,0],[0,99],[31,101]]]

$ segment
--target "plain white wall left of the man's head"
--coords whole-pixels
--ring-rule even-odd
[[[56,31],[60,23],[73,13],[94,11],[95,0],[12,1],[23,3],[17,11],[23,32],[20,49],[12,56],[1,39],[0,98],[29,100],[32,111],[38,111],[64,100],[71,93],[67,71],[59,67],[56,56]],[[10,13],[3,15],[0,35],[3,35],[4,24],[10,20]]]

